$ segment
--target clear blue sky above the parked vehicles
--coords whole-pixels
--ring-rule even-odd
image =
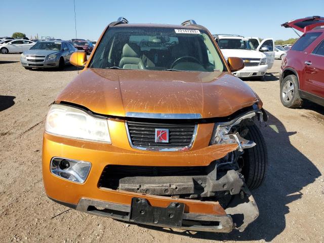
[[[306,16],[324,15],[324,0],[214,0],[214,1],[108,1],[75,0],[77,37],[97,39],[118,17],[131,23],[180,24],[194,19],[212,33],[261,38],[297,37],[280,24]],[[30,35],[75,37],[73,0],[7,0],[0,8],[0,36],[13,32]]]

